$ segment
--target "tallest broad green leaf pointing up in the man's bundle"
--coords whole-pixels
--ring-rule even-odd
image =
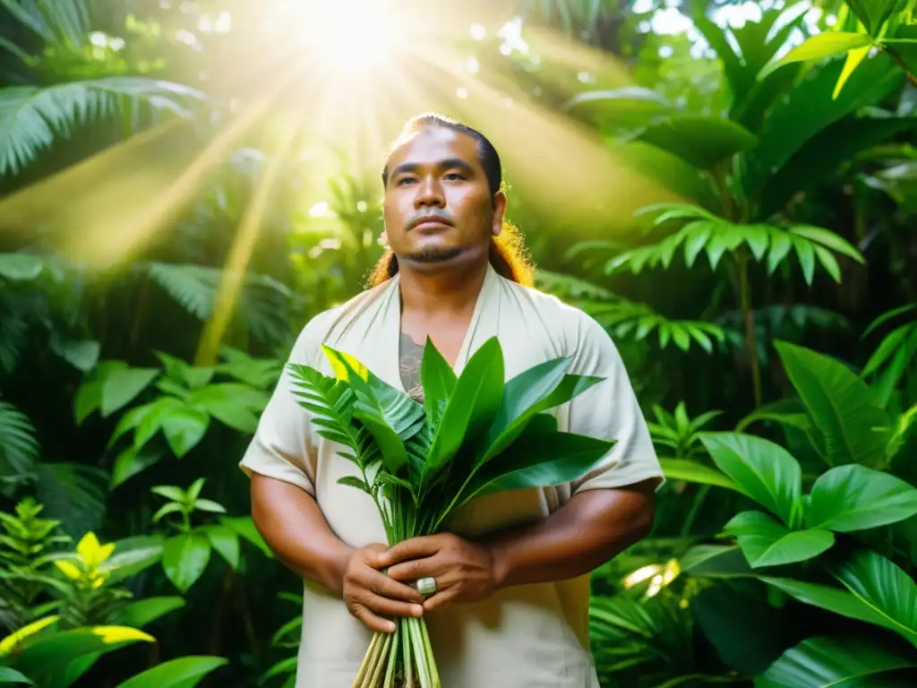
[[[490,338],[458,376],[426,456],[422,484],[428,485],[463,443],[474,442],[503,399],[503,351]]]

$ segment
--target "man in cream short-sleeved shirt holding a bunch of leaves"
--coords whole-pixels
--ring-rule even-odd
[[[449,533],[390,549],[370,497],[337,484],[355,467],[315,434],[284,375],[241,465],[261,535],[304,578],[296,685],[346,688],[372,631],[423,615],[445,688],[597,688],[589,574],[646,535],[663,479],[624,365],[594,320],[526,285],[500,159],[479,132],[415,118],[382,181],[390,250],[367,291],[306,324],[291,361],[331,374],[326,343],[419,396],[427,337],[460,373],[496,336],[507,379],[567,355],[571,372],[604,378],[558,409],[558,427],[617,442],[575,483],[483,497]],[[423,578],[436,583],[427,597]]]

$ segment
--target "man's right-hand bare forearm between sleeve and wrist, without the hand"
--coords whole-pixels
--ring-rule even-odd
[[[653,483],[590,490],[531,526],[486,538],[500,587],[576,578],[613,559],[653,526]]]

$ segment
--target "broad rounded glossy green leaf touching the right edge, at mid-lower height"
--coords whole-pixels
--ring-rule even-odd
[[[917,489],[888,473],[847,464],[823,473],[812,485],[806,524],[849,533],[915,514]]]

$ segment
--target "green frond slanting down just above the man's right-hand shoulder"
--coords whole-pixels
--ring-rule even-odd
[[[645,304],[613,294],[595,284],[558,272],[538,271],[537,279],[546,291],[564,298],[592,316],[615,338],[634,338],[638,341],[656,333],[660,349],[671,342],[682,351],[700,345],[707,353],[713,352],[713,339],[723,343],[723,327],[702,320],[675,320],[657,313]]]

